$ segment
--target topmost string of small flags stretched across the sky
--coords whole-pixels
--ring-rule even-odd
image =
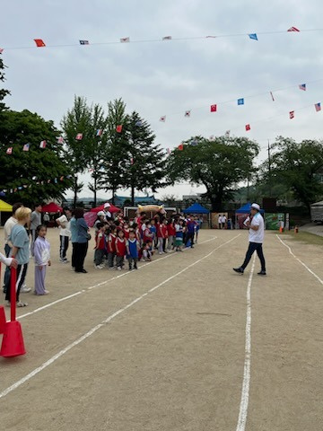
[[[259,35],[275,35],[275,34],[284,34],[284,33],[305,33],[305,32],[318,32],[323,31],[323,29],[302,29],[299,30],[297,27],[290,27],[287,30],[273,30],[273,31],[257,31],[254,33],[243,32],[243,33],[223,33],[223,34],[215,34],[215,35],[207,35],[207,36],[187,36],[181,38],[174,38],[171,35],[163,36],[160,39],[145,39],[145,40],[130,40],[130,37],[120,38],[117,40],[109,40],[107,42],[92,42],[91,46],[94,45],[116,45],[121,43],[147,43],[147,42],[161,42],[161,41],[189,41],[189,40],[214,40],[214,39],[223,39],[223,38],[236,38],[236,37],[248,37],[249,40],[258,40]],[[70,44],[60,44],[60,45],[48,45],[42,39],[34,39],[35,46],[21,46],[21,47],[4,47],[2,50],[9,49],[29,49],[29,48],[67,48],[67,47],[76,47],[76,46],[85,46],[90,45],[89,40],[78,40],[78,43],[70,43]]]

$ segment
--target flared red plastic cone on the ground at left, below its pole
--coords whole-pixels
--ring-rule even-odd
[[[21,356],[26,353],[22,338],[22,325],[19,321],[7,321],[4,325],[4,338],[0,356]]]

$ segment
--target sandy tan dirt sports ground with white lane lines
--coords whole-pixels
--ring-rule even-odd
[[[241,277],[231,268],[248,234],[204,230],[194,250],[131,273],[94,269],[90,247],[83,275],[58,263],[58,231],[48,239],[50,295],[22,294],[18,310],[27,354],[0,358],[1,430],[323,429],[321,247],[282,237],[314,277],[266,233],[267,277],[258,259]],[[249,282],[249,409],[237,427]]]

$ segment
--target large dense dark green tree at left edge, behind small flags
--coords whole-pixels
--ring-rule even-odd
[[[72,180],[65,163],[62,145],[57,144],[59,132],[52,121],[45,121],[29,110],[5,110],[0,121],[0,190],[6,192],[9,202],[21,200],[26,205],[48,198],[62,198]],[[39,148],[46,140],[45,149]],[[23,152],[24,144],[30,150]],[[13,147],[13,154],[6,154]],[[64,178],[63,178],[64,177]]]

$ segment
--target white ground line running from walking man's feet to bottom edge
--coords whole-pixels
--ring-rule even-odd
[[[245,344],[245,362],[243,368],[243,382],[240,400],[239,418],[236,431],[244,431],[246,428],[249,405],[250,389],[250,366],[251,366],[251,284],[255,271],[256,254],[252,260],[251,271],[247,286],[247,320],[246,320],[246,344]]]

